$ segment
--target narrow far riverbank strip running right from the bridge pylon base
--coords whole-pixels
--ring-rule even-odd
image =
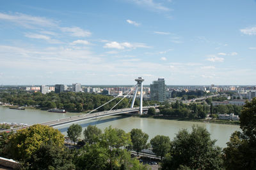
[[[228,125],[239,125],[239,121],[231,121],[231,120],[218,120],[218,119],[204,119],[204,118],[178,118],[178,117],[168,117],[163,115],[133,115],[134,117],[141,118],[156,118],[156,119],[164,119],[164,120],[177,120],[177,121],[188,121],[188,122],[203,122],[203,123],[211,123],[211,124],[228,124]]]

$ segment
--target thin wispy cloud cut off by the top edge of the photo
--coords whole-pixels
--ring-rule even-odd
[[[154,10],[154,11],[170,11],[169,8],[166,6],[163,6],[161,3],[155,3],[153,0],[131,0],[132,2],[146,7],[149,10]]]

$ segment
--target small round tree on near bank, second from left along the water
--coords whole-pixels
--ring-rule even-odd
[[[86,129],[84,129],[84,142],[93,144],[99,141],[101,135],[101,130],[97,128],[95,125],[88,125]]]

